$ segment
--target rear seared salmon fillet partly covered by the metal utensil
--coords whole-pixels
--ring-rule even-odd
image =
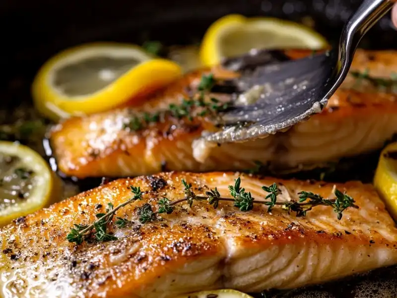
[[[352,71],[365,74],[368,70],[371,76],[390,79],[397,69],[396,55],[394,51],[358,51]],[[68,176],[83,178],[136,176],[164,169],[242,170],[252,168],[255,161],[273,169],[294,168],[379,149],[397,133],[397,95],[381,93],[365,79],[353,76],[346,79],[344,88],[331,97],[322,113],[267,138],[202,148],[194,141],[205,132],[218,130],[205,117],[192,121],[167,117],[140,131],[125,128],[132,114],[153,113],[170,103],[180,103],[208,72],[188,74],[139,106],[71,118],[58,125],[51,134],[51,145],[59,169]],[[220,67],[211,72],[218,78],[239,75]],[[215,97],[225,100],[230,95]]]

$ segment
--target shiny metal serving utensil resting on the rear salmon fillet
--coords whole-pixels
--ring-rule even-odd
[[[363,0],[347,20],[338,49],[293,61],[275,57],[278,62],[243,74],[234,86],[237,93],[243,95],[236,100],[236,107],[222,116],[225,128],[202,136],[196,144],[204,149],[207,145],[211,147],[211,144],[263,138],[321,112],[345,79],[359,41],[392,8],[395,1]],[[249,56],[255,58],[273,54],[270,51],[251,53]],[[262,56],[262,60],[269,58]],[[229,68],[238,69],[239,66],[229,61]],[[254,102],[246,104],[241,100],[247,97],[254,98]]]

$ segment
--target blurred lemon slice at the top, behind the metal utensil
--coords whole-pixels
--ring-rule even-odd
[[[247,18],[230,14],[215,21],[201,43],[204,65],[219,64],[251,49],[313,49],[326,47],[327,40],[302,24],[276,18]]]

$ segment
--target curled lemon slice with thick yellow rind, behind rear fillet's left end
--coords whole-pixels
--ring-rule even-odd
[[[181,75],[178,64],[154,59],[135,45],[92,43],[67,49],[36,75],[36,108],[58,120],[106,111],[167,85]]]

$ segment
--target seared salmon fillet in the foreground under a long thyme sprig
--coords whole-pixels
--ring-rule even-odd
[[[241,186],[258,200],[262,186],[276,182],[277,200],[297,199],[300,191],[331,198],[332,184],[260,178],[238,173],[160,173],[119,179],[20,218],[0,230],[0,286],[4,298],[172,298],[219,288],[259,292],[316,284],[397,263],[397,228],[371,185],[337,184],[354,198],[339,221],[329,206],[306,217],[275,206],[242,212],[232,202],[217,209],[207,201],[184,202],[171,214],[139,224],[136,208],[164,196],[184,198],[182,179],[196,195],[217,187],[229,197],[228,185]],[[118,237],[108,242],[69,243],[73,224],[90,224],[108,203],[117,206],[140,187],[142,200],[116,213],[131,221],[110,224]],[[114,220],[113,220],[114,221]]]

